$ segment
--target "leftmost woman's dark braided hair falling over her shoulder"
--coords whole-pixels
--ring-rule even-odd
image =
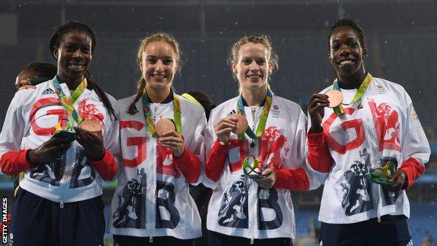
[[[91,39],[91,53],[94,52],[96,39],[95,39],[94,32],[92,32],[92,29],[88,27],[88,25],[85,25],[82,22],[69,20],[64,24],[56,27],[55,30],[53,31],[52,36],[50,37],[50,41],[48,45],[50,48],[50,53],[52,53],[53,57],[55,57],[55,50],[59,48],[64,35],[73,31],[84,32],[85,34],[87,34]],[[111,119],[116,120],[117,119],[116,112],[114,111],[111,102],[109,102],[109,98],[106,95],[106,93],[104,93],[104,91],[101,88],[99,88],[99,86],[97,86],[97,84],[94,81],[91,80],[91,76],[88,71],[85,73],[85,78],[87,79],[88,84],[92,87],[95,93],[97,93],[99,99],[102,100],[106,109],[109,111],[109,116],[111,117]]]

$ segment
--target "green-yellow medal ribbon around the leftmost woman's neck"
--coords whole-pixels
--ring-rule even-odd
[[[69,116],[71,118],[74,119],[74,121],[76,121],[77,123],[80,124],[83,121],[83,119],[77,113],[76,109],[74,109],[73,104],[74,104],[74,102],[76,102],[78,97],[81,96],[81,94],[83,93],[83,91],[87,87],[88,82],[87,82],[86,78],[83,78],[83,80],[81,81],[79,86],[76,88],[76,90],[74,90],[74,92],[71,93],[71,98],[68,98],[64,94],[64,92],[62,92],[62,88],[61,88],[59,80],[57,79],[57,76],[55,76],[55,78],[53,78],[52,83],[53,83],[53,87],[55,87],[55,92],[56,92],[57,96],[61,100],[62,106],[64,106],[64,109],[67,110],[67,113],[69,114]]]

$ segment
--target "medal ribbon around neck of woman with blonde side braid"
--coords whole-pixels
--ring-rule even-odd
[[[181,104],[179,103],[179,96],[176,93],[174,93],[173,89],[172,89],[172,93],[173,93],[173,122],[174,125],[176,125],[176,132],[179,135],[181,135],[182,132]],[[143,101],[144,117],[146,118],[147,133],[151,137],[157,137],[158,135],[155,132],[155,125],[153,124],[153,120],[151,116],[150,102],[148,102],[146,88],[144,88],[142,101]]]

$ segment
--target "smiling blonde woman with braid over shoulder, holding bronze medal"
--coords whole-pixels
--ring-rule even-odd
[[[139,92],[118,100],[123,168],[108,231],[116,245],[192,245],[201,223],[188,184],[200,182],[207,120],[202,107],[172,89],[181,68],[174,37],[147,36],[137,62]]]

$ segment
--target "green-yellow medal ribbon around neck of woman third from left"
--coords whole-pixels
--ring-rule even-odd
[[[256,127],[256,133],[250,127],[248,127],[246,130],[247,136],[249,136],[251,139],[260,139],[261,137],[263,137],[263,133],[265,130],[265,122],[267,121],[268,114],[270,112],[270,107],[272,107],[272,97],[273,97],[272,91],[267,90],[267,95],[265,97],[265,103],[263,107],[263,113],[261,114],[260,121],[258,122],[258,126]],[[244,113],[242,95],[240,95],[240,98],[238,98],[237,112],[238,114],[242,114],[243,116],[246,116],[246,114]],[[240,140],[245,139],[244,133],[238,135],[238,139]]]

